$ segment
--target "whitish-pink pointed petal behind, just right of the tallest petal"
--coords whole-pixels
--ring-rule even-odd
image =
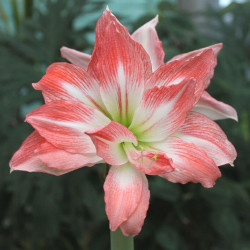
[[[155,71],[164,64],[164,50],[162,42],[159,40],[155,26],[158,23],[158,16],[151,21],[145,23],[137,29],[132,37],[140,43],[150,56],[152,69]]]

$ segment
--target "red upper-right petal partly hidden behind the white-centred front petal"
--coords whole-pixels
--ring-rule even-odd
[[[174,85],[184,79],[195,78],[197,80],[195,95],[198,101],[213,76],[215,65],[216,57],[213,50],[206,49],[186,61],[176,60],[162,65],[151,75],[146,88]]]

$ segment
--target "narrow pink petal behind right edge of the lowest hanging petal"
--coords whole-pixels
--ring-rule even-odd
[[[136,208],[135,212],[129,217],[128,220],[120,225],[120,229],[125,236],[136,236],[140,233],[147,215],[150,192],[148,190],[148,181],[145,175],[142,175],[143,187],[141,201]]]

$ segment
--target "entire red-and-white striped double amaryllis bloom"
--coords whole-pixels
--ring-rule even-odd
[[[61,175],[99,162],[110,229],[137,235],[149,205],[147,175],[209,188],[233,165],[236,151],[213,121],[235,110],[212,98],[209,85],[221,44],[164,64],[155,25],[132,36],[109,10],[96,25],[92,56],[62,48],[73,64],[54,63],[33,84],[45,104],[26,121],[35,131],[10,161],[11,170]]]

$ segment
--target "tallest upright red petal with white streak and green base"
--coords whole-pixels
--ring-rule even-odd
[[[108,10],[97,22],[89,68],[98,71],[101,97],[113,120],[129,124],[142,98],[151,63],[143,47]]]

